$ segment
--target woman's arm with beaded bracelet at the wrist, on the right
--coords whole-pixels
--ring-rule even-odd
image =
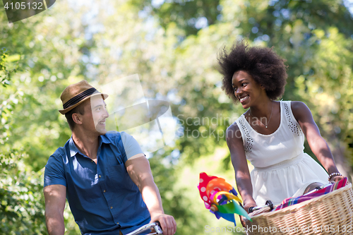
[[[328,174],[334,172],[339,173],[330,148],[321,136],[315,121],[313,121],[310,109],[306,104],[299,101],[293,101],[291,107],[294,118],[297,119],[313,154],[318,158],[326,171],[328,171]],[[333,176],[331,179],[334,181],[340,181],[342,176]]]

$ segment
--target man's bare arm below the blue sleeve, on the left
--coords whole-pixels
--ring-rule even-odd
[[[60,184],[45,186],[45,222],[49,235],[64,235],[66,187]]]

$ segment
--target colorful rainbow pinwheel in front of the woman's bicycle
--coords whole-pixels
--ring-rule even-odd
[[[208,176],[205,172],[202,172],[200,173],[198,191],[200,191],[206,209],[210,209],[210,212],[215,214],[217,219],[222,217],[237,225],[234,219],[234,214],[237,214],[251,221],[248,213],[238,204],[238,202],[242,202],[237,196],[237,191],[225,179]]]

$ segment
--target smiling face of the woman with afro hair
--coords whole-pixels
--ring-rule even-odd
[[[256,83],[246,71],[237,71],[232,78],[234,95],[237,97],[244,109],[251,107],[258,97],[265,95],[265,89]]]

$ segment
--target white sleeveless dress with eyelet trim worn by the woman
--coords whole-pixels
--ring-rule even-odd
[[[270,135],[256,132],[242,114],[235,121],[241,131],[246,159],[253,164],[251,183],[257,205],[279,204],[302,195],[311,183],[328,183],[328,174],[304,152],[304,133],[290,101],[280,101],[280,127]]]

